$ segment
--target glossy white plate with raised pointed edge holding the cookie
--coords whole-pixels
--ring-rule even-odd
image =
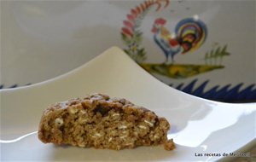
[[[177,148],[169,152],[162,146],[122,151],[57,147],[40,142],[32,133],[49,104],[93,92],[125,97],[166,117],[172,124],[168,137],[174,138]],[[216,160],[223,157],[195,153],[233,153],[255,144],[255,104],[227,104],[186,95],[160,83],[114,47],[58,78],[0,90],[0,95],[1,161]]]

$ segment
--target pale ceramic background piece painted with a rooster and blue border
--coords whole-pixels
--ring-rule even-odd
[[[115,45],[189,94],[256,100],[255,1],[1,1],[1,83],[36,84]]]

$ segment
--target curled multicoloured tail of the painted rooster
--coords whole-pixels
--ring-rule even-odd
[[[177,40],[183,48],[183,54],[199,49],[207,38],[207,26],[202,20],[187,18],[179,21],[175,27]]]

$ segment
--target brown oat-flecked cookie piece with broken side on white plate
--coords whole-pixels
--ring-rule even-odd
[[[164,144],[169,129],[165,118],[144,107],[93,94],[48,107],[39,124],[38,138],[44,143],[120,150]],[[168,143],[167,150],[174,148]]]

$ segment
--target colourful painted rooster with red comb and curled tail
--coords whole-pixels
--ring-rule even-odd
[[[187,18],[179,21],[175,27],[175,32],[170,34],[166,29],[166,20],[158,18],[154,20],[152,32],[154,33],[154,42],[162,49],[166,55],[167,63],[171,57],[174,62],[174,55],[185,54],[201,47],[207,38],[207,26],[198,19]]]

